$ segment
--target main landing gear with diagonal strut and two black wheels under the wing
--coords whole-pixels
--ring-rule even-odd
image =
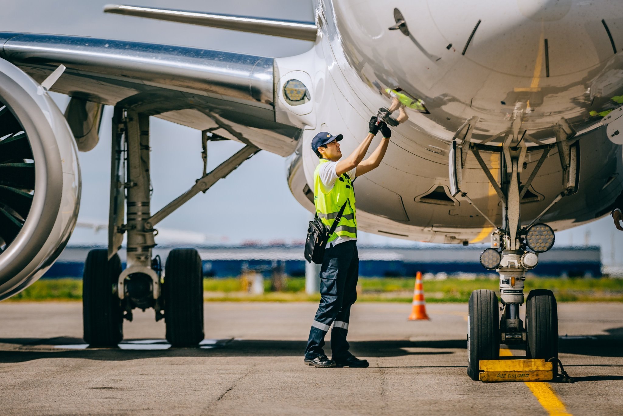
[[[159,256],[151,253],[156,246],[154,226],[259,152],[259,148],[247,144],[207,173],[206,130],[202,135],[203,175],[188,191],[151,215],[149,121],[148,114],[115,107],[108,249],[90,251],[83,274],[84,339],[91,347],[117,346],[123,339],[123,320],[131,321],[136,308],[153,308],[156,321],[164,318],[171,346],[192,347],[202,341],[203,273],[199,253],[193,248],[171,250],[163,273]],[[124,233],[127,261],[122,270],[117,251]]]

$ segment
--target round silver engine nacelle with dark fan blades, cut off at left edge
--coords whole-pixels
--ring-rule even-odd
[[[29,75],[0,59],[0,300],[39,279],[78,217],[74,135]]]

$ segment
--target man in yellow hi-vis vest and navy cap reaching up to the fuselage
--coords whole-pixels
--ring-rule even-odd
[[[344,160],[340,160],[340,140],[327,132],[318,133],[312,140],[312,148],[320,158],[314,172],[314,205],[318,217],[327,227],[346,203],[340,223],[326,245],[325,256],[320,269],[320,306],[314,317],[307,349],[305,364],[315,367],[368,367],[368,361],[360,360],[348,352],[348,321],[350,309],[357,299],[357,280],[359,278],[359,256],[357,254],[357,219],[353,180],[378,167],[388,148],[391,130],[384,122],[376,123],[372,117],[368,124],[368,136]],[[376,133],[381,130],[383,138],[376,150],[363,160]],[[332,359],[323,351],[325,334],[331,331]]]

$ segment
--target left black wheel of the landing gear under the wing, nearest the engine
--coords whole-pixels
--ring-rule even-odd
[[[117,296],[121,274],[118,254],[108,260],[107,249],[88,252],[82,276],[84,341],[91,347],[116,347],[123,339],[123,309]]]

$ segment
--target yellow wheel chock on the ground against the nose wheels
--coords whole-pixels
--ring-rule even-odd
[[[548,381],[554,378],[551,362],[544,359],[480,360],[480,381]]]

